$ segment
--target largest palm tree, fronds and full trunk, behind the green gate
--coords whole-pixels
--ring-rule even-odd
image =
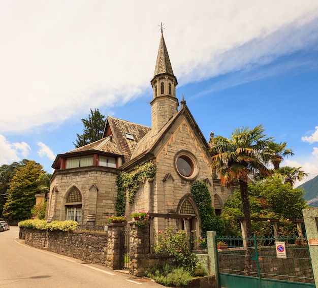
[[[219,173],[221,184],[232,186],[239,184],[243,205],[244,220],[246,223],[246,236],[251,237],[250,206],[248,200],[247,183],[255,173],[261,176],[270,176],[271,172],[266,167],[274,160],[274,155],[269,151],[268,144],[272,137],[264,134],[263,125],[254,129],[249,127],[237,128],[230,139],[217,136],[213,139],[210,148],[213,168]],[[247,246],[250,246],[247,241]],[[251,267],[251,260],[246,251],[246,271]]]

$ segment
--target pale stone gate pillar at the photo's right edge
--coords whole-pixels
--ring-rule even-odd
[[[314,282],[318,283],[318,208],[303,209]]]

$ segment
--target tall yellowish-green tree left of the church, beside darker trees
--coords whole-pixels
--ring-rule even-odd
[[[9,219],[28,219],[36,203],[36,194],[40,194],[39,178],[45,174],[43,166],[35,161],[28,161],[18,168],[9,182],[7,202],[3,215]]]

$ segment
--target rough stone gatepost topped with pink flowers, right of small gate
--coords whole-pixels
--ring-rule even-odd
[[[150,253],[150,221],[139,227],[136,221],[130,223],[129,240],[129,272],[141,277],[145,268],[152,266],[149,262]]]

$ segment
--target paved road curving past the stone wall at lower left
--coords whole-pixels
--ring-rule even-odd
[[[0,232],[0,287],[164,287],[108,267],[27,246],[18,235],[18,227]]]

